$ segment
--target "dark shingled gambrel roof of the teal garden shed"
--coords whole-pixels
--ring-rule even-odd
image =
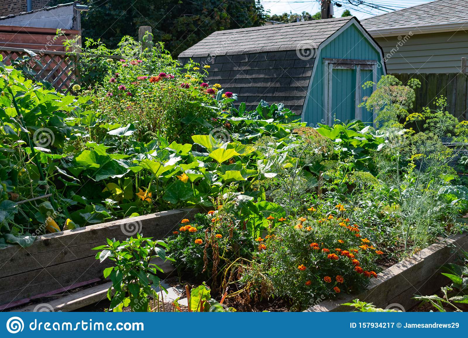
[[[298,53],[319,45],[352,17],[294,22],[212,33],[183,51],[179,60],[209,65],[208,80],[238,93],[249,108],[261,99],[284,103],[300,114],[314,66],[314,57]],[[358,22],[355,18],[354,20]]]

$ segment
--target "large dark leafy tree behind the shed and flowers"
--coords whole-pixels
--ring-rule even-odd
[[[54,0],[66,3],[69,0]],[[212,32],[261,26],[265,20],[259,0],[83,0],[83,38],[101,39],[116,48],[121,37],[138,37],[139,26],[151,26],[154,41],[165,43],[177,56]]]

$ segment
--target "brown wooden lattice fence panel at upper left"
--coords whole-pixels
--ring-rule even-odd
[[[79,83],[77,56],[61,52],[34,52],[36,56],[30,59],[28,67],[36,72],[36,75],[30,77],[48,81],[62,93],[73,93],[73,85]],[[28,52],[17,48],[1,48],[0,53],[3,55],[2,62],[6,65],[11,65],[17,58],[29,56]]]

